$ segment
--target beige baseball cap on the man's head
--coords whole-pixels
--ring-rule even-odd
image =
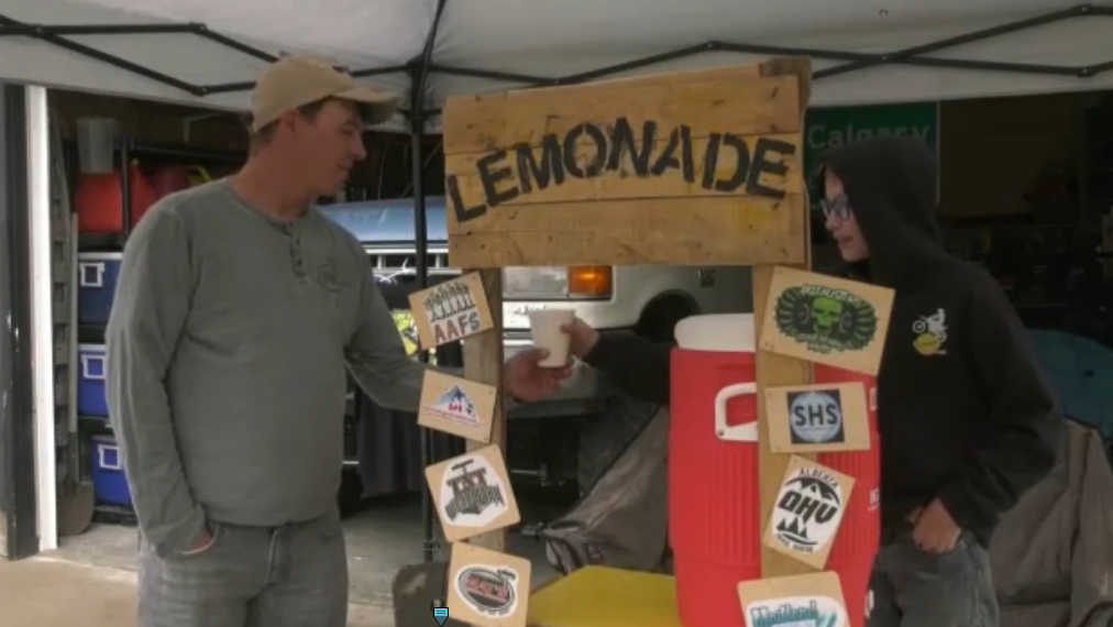
[[[367,124],[386,121],[401,98],[357,82],[323,57],[289,55],[263,70],[252,95],[252,130],[258,131],[284,112],[325,98],[361,105]]]

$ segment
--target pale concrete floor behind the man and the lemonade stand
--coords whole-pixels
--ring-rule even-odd
[[[520,496],[522,519],[549,520],[567,508],[567,502],[546,500]],[[344,527],[352,581],[351,625],[388,627],[393,625],[394,574],[422,560],[421,501],[416,496],[372,500],[347,517]],[[40,559],[0,561],[0,625],[134,625],[136,545],[134,528],[97,525],[81,536],[63,538],[58,551]],[[509,551],[534,564],[534,585],[555,575],[543,549],[518,533],[510,533]],[[59,598],[67,602],[59,604]]]

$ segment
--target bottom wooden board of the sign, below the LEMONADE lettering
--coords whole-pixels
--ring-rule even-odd
[[[454,267],[804,264],[802,195],[553,203],[450,223]],[[489,292],[489,297],[490,292]],[[498,307],[491,303],[491,311]]]

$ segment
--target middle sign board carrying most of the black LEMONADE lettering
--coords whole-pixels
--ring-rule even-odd
[[[598,144],[588,139],[590,144],[574,146],[574,136],[565,136],[544,148],[520,144],[493,153],[449,155],[444,168],[456,182],[453,204],[495,209],[569,200],[804,192],[804,149],[797,133],[690,136],[679,141],[658,137],[646,146],[642,130],[639,126],[632,133],[637,155],[624,148],[627,144],[604,139],[603,130]]]

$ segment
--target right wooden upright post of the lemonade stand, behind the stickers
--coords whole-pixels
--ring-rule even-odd
[[[754,268],[754,311],[764,312],[769,295],[769,284],[772,280],[774,266],[759,265]],[[756,336],[760,337],[761,325],[765,322],[761,315],[754,316]],[[758,389],[765,390],[770,385],[801,385],[811,383],[811,364],[796,357],[787,357],[758,351],[757,353],[757,381]],[[761,531],[772,516],[772,508],[776,504],[777,494],[780,491],[780,482],[788,469],[789,454],[772,452],[770,448],[769,417],[764,393],[758,394],[758,493],[760,494],[760,521]],[[799,457],[815,460],[815,453],[797,453]],[[802,561],[777,552],[776,550],[761,545],[761,577],[787,577],[789,575],[805,575],[814,569]]]

